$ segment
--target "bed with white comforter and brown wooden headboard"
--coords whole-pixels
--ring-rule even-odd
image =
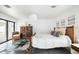
[[[66,27],[65,35],[60,35],[60,37],[44,33],[36,34],[32,37],[32,47],[39,49],[70,47],[72,42],[74,42],[73,29],[73,26]]]

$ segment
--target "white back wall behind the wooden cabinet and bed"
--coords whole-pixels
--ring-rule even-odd
[[[27,24],[31,24],[33,26],[33,32],[48,33],[51,30],[53,30],[53,27],[55,27],[55,20],[53,19],[19,20],[17,22],[17,31],[20,30],[20,26]]]

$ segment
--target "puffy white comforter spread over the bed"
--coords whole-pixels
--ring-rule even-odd
[[[32,38],[32,46],[40,49],[69,47],[70,45],[71,40],[65,35],[55,37],[50,34],[39,34]]]

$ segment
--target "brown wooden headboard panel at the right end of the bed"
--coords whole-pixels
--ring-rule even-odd
[[[66,33],[65,35],[68,35],[72,41],[72,43],[75,43],[76,40],[75,40],[75,28],[74,26],[69,26],[69,27],[66,27]]]

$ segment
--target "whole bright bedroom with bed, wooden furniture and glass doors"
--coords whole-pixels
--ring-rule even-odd
[[[0,54],[79,54],[78,5],[0,5]]]

